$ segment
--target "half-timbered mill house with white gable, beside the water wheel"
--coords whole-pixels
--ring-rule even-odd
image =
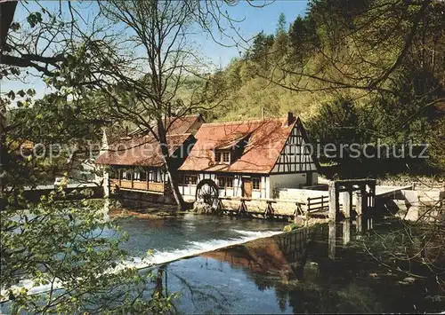
[[[317,159],[299,118],[205,123],[180,167],[180,191],[195,199],[206,182],[219,196],[274,198],[279,188],[318,182]]]

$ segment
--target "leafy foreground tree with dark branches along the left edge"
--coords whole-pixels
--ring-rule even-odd
[[[0,98],[0,299],[9,300],[2,309],[11,313],[166,310],[171,296],[144,295],[150,274],[143,276],[125,265],[130,257],[119,244],[127,236],[105,219],[109,201],[90,200],[91,192],[81,188],[69,194],[60,189],[37,202],[27,197],[44,183],[49,171],[69,171],[74,161],[85,159],[87,140],[107,123],[106,113],[93,102],[67,100],[86,89],[85,54],[75,48],[80,34],[74,22],[44,8],[30,12],[27,22],[12,22],[2,50],[2,80],[42,75],[53,91],[40,100],[33,89],[9,91]],[[19,67],[30,74],[20,74]],[[34,154],[22,150],[24,143],[36,145]],[[53,146],[63,146],[57,158],[51,154]],[[82,150],[70,155],[64,146]],[[71,201],[74,197],[79,201]],[[114,238],[102,234],[113,231]],[[43,285],[43,293],[28,295],[31,287],[22,281],[31,287]]]

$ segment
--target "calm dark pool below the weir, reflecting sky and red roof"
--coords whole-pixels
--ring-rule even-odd
[[[157,286],[178,292],[175,309],[185,313],[444,311],[426,274],[407,278],[370,255],[373,228],[390,233],[348,220],[207,252],[163,266]]]

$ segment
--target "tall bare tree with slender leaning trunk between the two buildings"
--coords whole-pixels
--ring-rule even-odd
[[[99,3],[103,16],[125,26],[127,43],[137,47],[139,56],[125,59],[119,48],[110,48],[98,55],[101,64],[109,59],[111,80],[102,80],[98,91],[106,102],[111,101],[109,113],[148,130],[160,144],[165,169],[174,199],[185,208],[178,190],[177,169],[169,159],[167,132],[175,119],[219,105],[228,97],[228,88],[211,75],[191,45],[190,36],[197,27],[199,6],[188,1],[109,1]],[[110,43],[112,44],[112,43]],[[110,58],[109,51],[114,51]],[[205,70],[205,71],[203,71]],[[178,97],[187,82],[201,84],[190,91],[190,98]],[[190,88],[190,86],[189,86]],[[210,105],[213,104],[213,105]],[[169,120],[168,117],[176,117]]]

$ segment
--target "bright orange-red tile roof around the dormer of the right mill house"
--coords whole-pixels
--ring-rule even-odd
[[[295,126],[294,120],[264,119],[245,122],[205,123],[198,130],[198,139],[180,170],[269,173],[273,169],[287,138]],[[237,143],[249,137],[248,144],[238,160],[214,164],[214,149]]]

